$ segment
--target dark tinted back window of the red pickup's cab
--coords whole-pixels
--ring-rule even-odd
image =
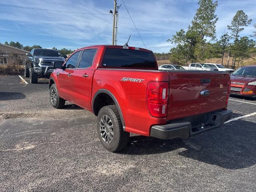
[[[103,67],[130,67],[130,68],[156,68],[156,61],[152,52],[107,48]]]

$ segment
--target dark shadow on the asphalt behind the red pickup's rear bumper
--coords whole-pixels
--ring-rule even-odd
[[[160,140],[130,137],[122,154],[160,154],[184,148],[178,155],[226,169],[242,169],[256,164],[255,123],[239,120],[188,139]]]

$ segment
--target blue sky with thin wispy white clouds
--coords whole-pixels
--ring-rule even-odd
[[[62,10],[69,12],[108,14],[113,0],[0,0],[0,4]],[[176,31],[187,29],[196,9],[197,0],[124,0],[146,48],[169,52],[166,42]],[[118,0],[121,4],[122,0]],[[38,44],[43,48],[76,49],[94,44],[112,44],[112,16],[49,12],[0,6],[0,42],[18,41],[24,46]],[[252,34],[256,23],[255,0],[219,0],[216,14],[217,37],[231,23],[237,10],[244,10],[252,24],[241,36]],[[129,45],[144,47],[124,5],[119,10],[118,44],[131,35]],[[55,29],[55,30],[54,30]],[[227,30],[227,29],[226,29]],[[55,35],[54,35],[55,34]]]

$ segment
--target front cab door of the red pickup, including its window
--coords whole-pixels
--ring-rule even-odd
[[[72,75],[76,68],[80,51],[74,53],[64,64],[64,69],[59,70],[57,73],[58,78],[58,92],[60,96],[66,100],[73,102],[73,87],[72,87]]]

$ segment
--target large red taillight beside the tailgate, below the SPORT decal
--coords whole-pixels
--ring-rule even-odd
[[[169,98],[169,82],[151,81],[147,87],[147,104],[151,116],[166,117]]]

